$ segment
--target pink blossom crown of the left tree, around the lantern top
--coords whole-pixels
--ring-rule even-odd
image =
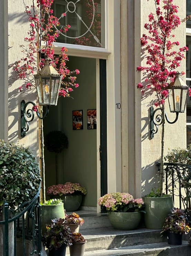
[[[59,74],[63,75],[59,95],[69,97],[73,87],[79,86],[76,83],[76,75],[79,74],[79,70],[70,71],[67,68],[67,48],[62,47],[60,55],[54,55],[53,43],[61,32],[66,33],[68,31],[70,25],[54,32],[54,27],[59,26],[60,23],[58,18],[52,15],[51,5],[53,1],[31,0],[31,6],[25,5],[25,12],[29,21],[29,32],[24,38],[27,47],[20,45],[24,57],[12,64],[12,68],[16,72],[17,79],[23,81],[23,85],[19,87],[20,92],[30,93],[36,90],[34,73],[44,66],[46,59],[50,59],[51,65]],[[63,16],[66,14],[63,13]],[[37,107],[34,106],[33,111],[37,111]]]

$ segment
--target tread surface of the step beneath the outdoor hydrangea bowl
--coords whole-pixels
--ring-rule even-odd
[[[118,235],[130,235],[135,233],[144,233],[144,232],[161,232],[159,229],[147,229],[147,228],[138,228],[134,230],[115,230],[112,227],[107,228],[97,228],[97,229],[85,229],[79,232],[82,233],[85,239],[90,238],[99,238],[99,237],[112,237]]]

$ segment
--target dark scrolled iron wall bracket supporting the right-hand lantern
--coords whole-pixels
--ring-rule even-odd
[[[153,107],[150,107],[150,136],[151,136],[151,139],[153,139],[154,134],[156,134],[158,132],[158,125],[162,124],[162,113],[157,114],[155,117],[156,112],[159,110],[162,112],[161,108],[157,108],[154,110]],[[175,122],[177,122],[178,115],[179,115],[179,113],[177,112],[175,120],[173,122],[170,122],[168,119],[167,113],[165,112],[165,118],[169,124],[174,124]]]

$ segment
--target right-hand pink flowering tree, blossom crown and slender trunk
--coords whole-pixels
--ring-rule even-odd
[[[149,0],[148,0],[149,1]],[[174,81],[177,68],[180,67],[182,59],[185,59],[184,52],[187,47],[180,47],[178,51],[174,46],[179,46],[175,41],[174,30],[185,21],[178,16],[178,6],[173,0],[163,0],[163,7],[160,8],[160,0],[153,0],[156,11],[149,15],[149,23],[144,24],[148,34],[141,37],[141,47],[147,54],[147,66],[137,67],[137,71],[143,74],[143,82],[138,83],[137,88],[141,89],[142,95],[145,89],[154,93],[156,102],[154,105],[162,111],[162,140],[161,140],[161,167],[159,193],[162,195],[163,172],[164,172],[164,124],[165,124],[165,100],[169,96],[169,83]],[[189,17],[187,17],[189,18]],[[182,72],[183,76],[185,73]],[[191,90],[189,89],[189,95]]]

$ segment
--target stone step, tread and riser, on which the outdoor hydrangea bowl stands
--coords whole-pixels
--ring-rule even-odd
[[[127,246],[166,242],[167,236],[161,236],[161,230],[139,228],[135,230],[114,230],[112,227],[80,231],[86,239],[85,251],[110,250]],[[69,254],[69,249],[67,249]]]

